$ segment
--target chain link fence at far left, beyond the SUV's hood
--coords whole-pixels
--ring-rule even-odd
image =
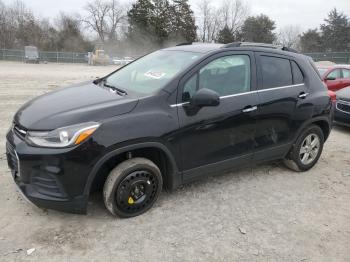
[[[48,52],[40,51],[39,57],[41,62],[50,63],[87,63],[87,53],[75,52]],[[0,49],[0,60],[7,61],[25,61],[24,50]]]

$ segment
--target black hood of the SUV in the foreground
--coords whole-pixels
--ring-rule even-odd
[[[109,88],[87,82],[27,102],[18,110],[14,121],[27,130],[53,130],[126,114],[137,102],[137,97],[120,96]]]

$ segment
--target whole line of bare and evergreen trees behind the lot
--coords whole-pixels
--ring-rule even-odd
[[[192,9],[193,8],[193,9]],[[23,1],[0,0],[0,48],[35,45],[49,51],[92,51],[142,54],[181,42],[249,41],[275,43],[302,52],[350,51],[350,19],[337,9],[319,28],[302,32],[295,25],[276,29],[270,17],[252,16],[244,0],[90,0],[82,14],[61,12],[55,19],[38,18]]]

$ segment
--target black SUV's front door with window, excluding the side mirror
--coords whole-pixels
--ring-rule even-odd
[[[250,163],[254,149],[257,104],[252,52],[214,55],[180,82],[178,117],[184,181],[205,173]],[[193,108],[199,89],[220,96],[220,104]]]

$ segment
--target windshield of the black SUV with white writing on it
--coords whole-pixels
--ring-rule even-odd
[[[156,51],[121,68],[106,83],[126,91],[150,94],[163,88],[176,74],[202,54],[184,51]]]

